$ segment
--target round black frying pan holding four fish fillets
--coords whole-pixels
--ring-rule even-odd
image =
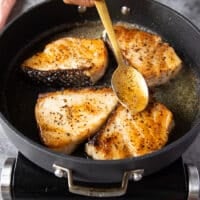
[[[37,85],[26,79],[21,74],[20,62],[46,42],[71,31],[76,22],[99,20],[95,8],[79,13],[76,6],[65,5],[61,0],[46,1],[22,14],[0,35],[0,122],[6,134],[32,162],[50,172],[55,172],[54,164],[70,169],[73,179],[85,182],[121,182],[125,172],[137,169],[144,170],[144,175],[154,173],[179,158],[200,129],[200,32],[178,13],[151,0],[109,0],[107,3],[114,21],[135,23],[160,34],[185,63],[181,72],[185,83],[179,93],[171,93],[168,86],[154,89],[155,94],[160,94],[157,98],[174,113],[176,128],[166,147],[146,156],[94,161],[84,155],[81,147],[68,156],[53,152],[40,142],[34,119],[36,99],[40,93],[60,88]],[[130,13],[122,14],[122,6],[130,8]],[[112,54],[110,60],[112,71],[116,64]],[[173,80],[171,84],[176,88],[183,82]],[[62,175],[61,171],[56,172]]]

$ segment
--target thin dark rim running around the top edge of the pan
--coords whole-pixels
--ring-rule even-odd
[[[200,30],[199,28],[193,24],[191,22],[191,20],[182,15],[181,13],[177,12],[176,10],[158,2],[155,0],[145,0],[147,2],[153,2],[153,4],[157,4],[161,7],[163,7],[164,9],[167,9],[169,12],[173,13],[174,15],[176,15],[177,17],[179,17],[181,20],[183,20],[185,23],[187,23],[188,26],[190,26],[193,31],[197,32],[200,35]],[[15,23],[16,21],[18,21],[22,16],[26,15],[27,13],[33,11],[34,9],[37,9],[38,7],[40,7],[41,5],[45,5],[45,4],[49,4],[51,2],[51,0],[47,0],[44,2],[41,2],[29,9],[27,9],[26,11],[24,11],[23,13],[21,13],[20,15],[18,15],[17,17],[15,17],[14,19],[12,19],[2,30],[2,32],[0,33],[0,38],[6,34],[6,31],[12,27],[13,23]],[[129,162],[134,162],[134,161],[138,161],[138,160],[144,160],[146,158],[151,159],[152,157],[155,157],[157,155],[160,155],[162,153],[165,153],[173,148],[175,148],[177,145],[183,143],[185,140],[187,140],[192,134],[196,133],[196,135],[199,134],[198,129],[200,129],[200,122],[195,120],[193,123],[195,123],[195,125],[188,131],[186,132],[181,138],[178,138],[177,140],[173,141],[172,143],[164,146],[163,148],[161,148],[160,150],[157,150],[155,152],[152,152],[150,154],[144,155],[144,156],[139,156],[139,157],[132,157],[132,158],[126,158],[126,159],[119,159],[119,160],[93,160],[93,159],[87,159],[87,158],[83,158],[83,157],[77,157],[77,156],[73,156],[73,155],[65,155],[62,153],[58,153],[58,152],[54,152],[52,150],[50,150],[48,147],[45,147],[31,139],[29,139],[28,137],[26,137],[24,134],[22,134],[20,131],[18,131],[2,114],[2,112],[0,112],[0,118],[1,120],[4,121],[4,123],[9,127],[9,129],[11,129],[13,132],[15,132],[15,134],[17,136],[20,137],[21,140],[23,140],[23,142],[27,143],[28,145],[32,146],[33,148],[39,148],[40,151],[46,153],[46,154],[50,154],[52,156],[56,156],[56,157],[60,157],[62,159],[67,159],[68,161],[72,161],[72,162],[81,162],[81,163],[85,163],[85,164],[89,164],[92,162],[92,164],[96,164],[96,165],[112,165],[112,164],[126,164]],[[23,153],[23,152],[22,152]]]

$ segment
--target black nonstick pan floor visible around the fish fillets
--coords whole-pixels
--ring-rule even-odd
[[[122,23],[122,22],[121,22]],[[127,25],[127,24],[126,24]],[[134,24],[131,24],[134,26]],[[136,25],[145,29],[141,25]],[[101,37],[103,27],[100,21],[83,22],[75,25],[62,25],[49,29],[22,46],[19,53],[9,66],[6,77],[5,112],[9,121],[26,137],[41,143],[39,130],[34,116],[34,107],[39,94],[49,91],[62,90],[60,87],[50,87],[37,84],[21,72],[20,64],[28,56],[41,51],[45,44],[64,36],[72,37]],[[146,29],[146,31],[151,31]],[[191,68],[192,63],[184,60],[184,68],[181,73],[169,83],[152,89],[153,96],[172,110],[175,116],[175,129],[170,134],[169,143],[183,136],[191,128],[196,116],[198,105],[197,76]],[[116,62],[111,51],[109,51],[109,67],[105,76],[95,85],[110,85],[110,78],[116,67]],[[83,145],[73,155],[85,157]]]

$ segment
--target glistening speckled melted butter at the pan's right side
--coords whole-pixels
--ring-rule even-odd
[[[197,78],[186,66],[168,83],[155,88],[155,98],[165,104],[182,122],[192,123],[199,108]]]

